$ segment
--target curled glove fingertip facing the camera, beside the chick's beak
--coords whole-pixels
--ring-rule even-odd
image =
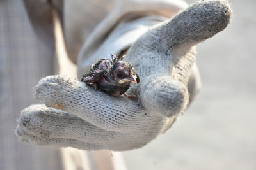
[[[152,74],[139,87],[140,102],[147,110],[164,115],[177,116],[186,109],[189,101],[188,89],[184,83],[168,75]]]

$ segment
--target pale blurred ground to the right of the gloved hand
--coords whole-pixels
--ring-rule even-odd
[[[123,152],[128,169],[256,169],[256,1],[230,2],[232,23],[197,46],[199,96],[172,129]]]

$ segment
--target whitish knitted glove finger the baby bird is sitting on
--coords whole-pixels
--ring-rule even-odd
[[[113,97],[61,76],[48,76],[36,85],[36,98],[46,106],[58,106],[102,129],[129,133],[141,129],[161,129],[164,118],[145,112],[136,101]],[[147,122],[147,124],[145,124]],[[154,125],[152,125],[154,124]],[[156,128],[156,127],[155,127]]]

